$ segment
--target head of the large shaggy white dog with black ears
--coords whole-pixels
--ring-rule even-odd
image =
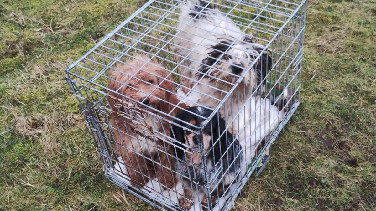
[[[247,36],[240,40],[230,39],[229,36],[217,37],[220,41],[208,48],[207,57],[202,60],[198,77],[204,75],[214,81],[218,78],[235,83],[239,77],[244,76],[244,83],[252,88],[257,87],[271,68],[271,57],[263,53],[252,66],[256,57],[261,53],[264,45],[252,42]]]

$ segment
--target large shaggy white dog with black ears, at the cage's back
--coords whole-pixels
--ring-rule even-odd
[[[242,172],[246,173],[260,141],[285,115],[270,99],[259,96],[271,58],[264,52],[254,66],[252,63],[265,46],[252,42],[228,16],[200,0],[188,0],[180,6],[174,44],[173,51],[182,62],[179,71],[184,77],[180,82],[192,87],[188,94],[180,92],[187,105],[217,107],[226,95],[223,91],[233,87],[229,82],[244,76],[219,113],[238,137],[245,161]]]

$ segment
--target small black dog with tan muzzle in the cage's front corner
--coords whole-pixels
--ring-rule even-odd
[[[177,145],[182,148],[176,148],[175,168],[185,192],[185,197],[180,198],[179,203],[185,209],[190,209],[193,201],[197,201],[197,197],[200,198],[198,202],[203,207],[207,206],[204,165],[208,172],[206,182],[211,184],[213,191],[211,196],[213,206],[217,203],[218,197],[223,196],[224,192],[227,194],[231,191],[229,186],[235,184],[241,176],[240,167],[243,162],[241,146],[237,139],[233,139],[233,134],[226,130],[226,123],[218,113],[208,121],[202,132],[193,127],[193,125],[202,127],[211,113],[210,109],[190,107],[178,113],[176,118],[181,121],[175,122],[191,131],[177,125],[171,126],[171,137],[180,142]],[[200,149],[203,149],[203,152]],[[205,164],[202,163],[203,160],[206,160]]]

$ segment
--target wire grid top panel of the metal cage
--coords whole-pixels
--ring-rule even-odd
[[[258,62],[262,66],[262,54],[270,51],[270,43],[301,4],[298,0],[152,0],[70,65],[67,77],[75,84],[75,95],[92,104],[124,101],[127,106],[144,106],[172,119],[171,113],[183,109],[183,104],[214,113],[247,75],[256,80],[252,69]],[[209,62],[203,63],[203,58]],[[213,80],[222,85],[207,83]],[[198,86],[204,88],[195,89]],[[257,86],[255,82],[253,88]],[[203,89],[220,94],[210,95]],[[124,90],[140,95],[132,98]],[[159,92],[177,100],[165,99]],[[216,106],[192,102],[188,93],[206,96]],[[153,99],[172,109],[161,112],[149,106]]]

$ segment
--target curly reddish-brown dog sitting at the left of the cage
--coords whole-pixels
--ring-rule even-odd
[[[173,94],[175,84],[156,61],[142,54],[135,58],[117,66],[109,83],[109,89],[116,92],[107,97],[112,109],[109,123],[117,142],[114,151],[123,158],[133,185],[142,187],[157,177],[163,189],[171,188],[175,185],[173,147],[164,141],[170,128],[163,118],[170,120],[166,114],[175,116],[180,111],[175,106],[179,103]]]

